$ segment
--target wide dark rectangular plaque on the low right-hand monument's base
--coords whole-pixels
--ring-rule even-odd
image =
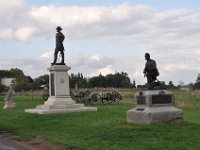
[[[152,95],[152,104],[170,104],[172,95]]]

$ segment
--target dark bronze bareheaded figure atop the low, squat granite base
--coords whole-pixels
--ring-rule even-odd
[[[159,72],[156,66],[155,60],[150,58],[149,53],[145,53],[145,59],[147,60],[144,68],[144,76],[147,77],[147,84],[150,85],[157,80]]]

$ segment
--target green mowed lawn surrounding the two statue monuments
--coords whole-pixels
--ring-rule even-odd
[[[121,93],[120,104],[95,105],[97,112],[37,115],[24,109],[43,104],[40,97],[15,96],[16,108],[4,110],[0,97],[0,131],[19,139],[42,137],[70,150],[198,150],[200,149],[200,109],[185,107],[183,123],[135,125],[126,123],[126,111],[133,108],[131,92]],[[181,93],[180,93],[181,94]],[[181,98],[181,96],[179,95]],[[185,97],[185,96],[184,96]],[[185,100],[186,101],[186,100]],[[200,99],[190,100],[187,104]],[[179,98],[176,101],[182,104]],[[181,105],[183,106],[183,105]]]

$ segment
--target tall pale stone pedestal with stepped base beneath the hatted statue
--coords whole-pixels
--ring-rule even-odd
[[[34,109],[26,109],[28,113],[54,114],[66,112],[97,111],[96,107],[85,107],[84,104],[76,104],[70,96],[69,75],[70,67],[67,65],[53,65],[49,69],[49,93],[50,96],[44,105],[38,105]]]

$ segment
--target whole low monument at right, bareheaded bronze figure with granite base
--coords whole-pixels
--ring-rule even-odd
[[[174,96],[157,80],[159,75],[156,62],[145,54],[147,60],[144,75],[147,87],[135,94],[136,108],[127,111],[127,122],[136,124],[154,124],[161,122],[183,121],[183,112],[174,107]]]

